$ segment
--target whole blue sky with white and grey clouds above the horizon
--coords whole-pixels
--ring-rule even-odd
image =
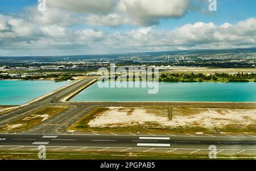
[[[0,0],[0,56],[256,47],[255,0],[40,1]]]

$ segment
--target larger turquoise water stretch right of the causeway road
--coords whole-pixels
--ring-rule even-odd
[[[256,102],[255,82],[159,82],[159,92],[146,88],[88,87],[72,101],[179,101],[179,102]]]

